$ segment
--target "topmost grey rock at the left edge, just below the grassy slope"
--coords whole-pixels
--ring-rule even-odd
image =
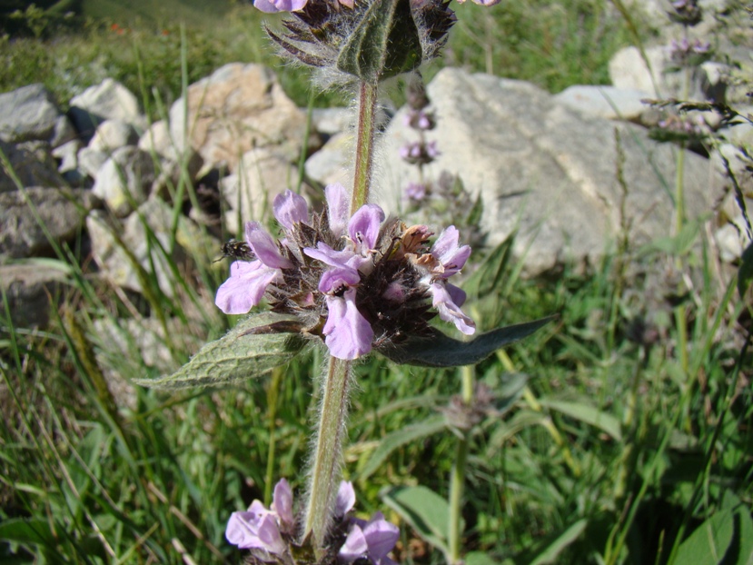
[[[29,84],[0,94],[0,140],[50,142],[60,116],[44,84]]]

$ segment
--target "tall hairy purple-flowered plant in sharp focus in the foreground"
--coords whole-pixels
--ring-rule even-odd
[[[269,510],[253,501],[248,510],[233,513],[226,537],[250,551],[253,563],[365,560],[389,565],[397,528],[380,513],[368,521],[347,518],[355,499],[352,485],[335,486],[352,362],[379,352],[398,363],[470,365],[549,320],[499,328],[470,342],[440,332],[431,323],[437,315],[466,336],[476,332],[475,322],[461,310],[465,292],[450,282],[465,267],[471,247],[461,244],[454,225],[432,241],[427,225],[387,219],[370,202],[379,85],[438,55],[455,21],[449,2],[256,0],[256,5],[268,12],[291,11],[293,19],[283,23],[285,34],[267,30],[284,52],[318,67],[331,83],[357,84],[353,186],[327,186],[321,213],[310,211],[292,191],[277,196],[272,209],[279,238],[261,223],[246,223],[244,241],[233,244],[236,261],[230,277],[215,302],[225,313],[247,314],[266,299],[269,310],[252,313],[223,338],[206,344],[181,370],[149,384],[175,388],[258,377],[289,362],[306,344],[323,342],[329,355],[300,519],[292,512],[291,488],[281,481]],[[415,119],[431,125],[427,114]],[[435,156],[432,144],[405,155],[419,161]],[[471,404],[472,394],[462,402]],[[453,476],[461,474],[462,461]],[[455,498],[445,550],[451,563],[460,561],[461,497]]]

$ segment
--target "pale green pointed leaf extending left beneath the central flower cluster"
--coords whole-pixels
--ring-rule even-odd
[[[292,358],[306,344],[293,316],[262,312],[249,316],[223,337],[207,343],[172,375],[138,384],[165,389],[223,385],[253,379]]]

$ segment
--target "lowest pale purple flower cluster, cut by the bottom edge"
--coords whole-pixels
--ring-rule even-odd
[[[332,540],[328,544],[344,564],[357,560],[373,565],[393,565],[388,554],[395,547],[400,531],[376,512],[371,520],[349,516],[355,505],[351,482],[342,481],[335,501]],[[225,538],[241,550],[250,550],[255,563],[291,563],[301,547],[296,544],[296,521],[292,511],[292,490],[282,479],[274,487],[272,506],[253,501],[248,510],[233,512]],[[332,556],[334,557],[334,555]]]

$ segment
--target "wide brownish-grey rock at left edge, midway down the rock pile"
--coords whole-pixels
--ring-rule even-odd
[[[37,187],[23,193],[0,193],[0,259],[49,250],[45,230],[55,242],[71,241],[84,224],[86,213],[97,205],[98,199],[81,189]]]

